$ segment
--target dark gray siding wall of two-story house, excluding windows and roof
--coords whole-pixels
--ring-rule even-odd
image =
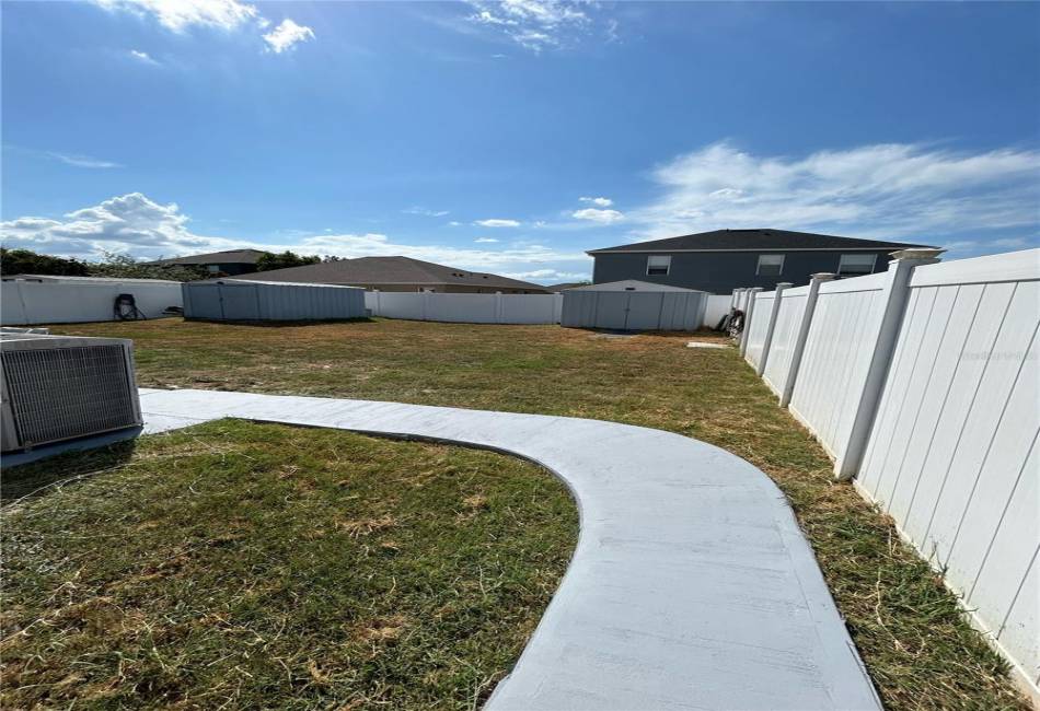
[[[809,277],[819,271],[837,271],[837,263],[843,254],[876,254],[875,271],[888,269],[889,254],[892,249],[877,252],[855,249],[834,252],[656,252],[671,254],[672,264],[668,276],[647,276],[647,253],[612,253],[592,255],[596,259],[592,270],[593,283],[638,279],[671,287],[700,289],[715,294],[732,293],[739,287],[762,287],[772,289],[777,282],[789,281],[796,287],[809,283]],[[760,254],[783,254],[784,271],[779,276],[759,277],[755,269]]]

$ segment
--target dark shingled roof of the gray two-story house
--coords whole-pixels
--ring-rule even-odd
[[[610,252],[763,252],[767,249],[892,249],[894,252],[897,249],[927,246],[902,242],[837,237],[831,234],[812,234],[811,232],[791,232],[789,230],[715,230],[713,232],[685,234],[681,237],[667,237],[665,240],[592,249],[588,254],[597,255]]]

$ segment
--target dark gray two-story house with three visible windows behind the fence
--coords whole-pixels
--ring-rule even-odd
[[[597,284],[636,279],[728,294],[739,287],[807,284],[821,271],[839,278],[885,271],[892,252],[924,247],[788,230],[715,230],[588,254]]]

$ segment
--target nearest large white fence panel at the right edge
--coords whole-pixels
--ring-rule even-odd
[[[1040,250],[915,269],[857,487],[1040,677]]]

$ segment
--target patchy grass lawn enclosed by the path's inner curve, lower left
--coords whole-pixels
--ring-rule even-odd
[[[224,420],[13,474],[74,483],[3,512],[4,709],[471,709],[577,539],[530,463],[336,430]]]

